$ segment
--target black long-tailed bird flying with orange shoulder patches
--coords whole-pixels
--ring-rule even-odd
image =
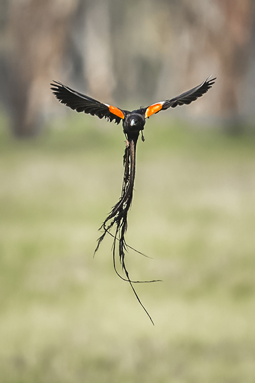
[[[146,118],[150,117],[152,114],[156,114],[161,110],[166,110],[168,108],[175,108],[177,105],[190,104],[192,101],[195,101],[198,97],[201,97],[206,93],[214,84],[214,79],[209,77],[200,85],[188,90],[185,93],[180,94],[177,97],[174,97],[171,100],[161,101],[156,104],[152,104],[147,108],[140,108],[130,112],[129,110],[123,110],[116,108],[115,106],[103,104],[99,101],[96,101],[85,94],[79,93],[68,86],[63,85],[59,81],[54,81],[52,85],[53,93],[56,98],[69,108],[76,110],[77,112],[84,112],[91,114],[92,116],[96,115],[99,118],[107,118],[108,121],[112,122],[115,120],[115,123],[119,124],[122,120],[123,132],[126,137],[126,148],[123,156],[124,164],[124,177],[122,183],[122,193],[119,201],[112,208],[109,216],[106,218],[104,223],[101,225],[100,229],[103,229],[103,234],[98,239],[98,244],[95,249],[97,251],[101,241],[103,241],[106,233],[109,233],[114,237],[113,241],[113,263],[116,273],[119,275],[115,265],[115,249],[116,249],[116,240],[118,241],[118,252],[120,258],[120,264],[126,276],[126,279],[129,281],[134,294],[136,295],[139,303],[144,308],[151,322],[153,323],[151,317],[149,316],[147,310],[141,303],[132,283],[139,281],[132,281],[129,277],[129,273],[125,267],[125,252],[127,247],[129,247],[125,242],[125,232],[127,229],[127,212],[129,211],[133,198],[133,189],[135,181],[135,169],[136,169],[136,144],[141,132],[142,140],[143,129],[146,122]],[[111,234],[110,230],[112,227],[115,227],[115,234]],[[152,282],[152,281],[151,281]]]

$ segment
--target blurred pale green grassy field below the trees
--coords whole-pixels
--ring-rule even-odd
[[[155,125],[157,122],[158,125]],[[120,126],[73,114],[36,139],[0,124],[0,381],[253,383],[255,139],[151,118],[139,140],[130,286],[97,231]]]

